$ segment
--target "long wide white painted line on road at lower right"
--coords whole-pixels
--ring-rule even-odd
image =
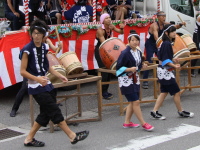
[[[116,146],[109,148],[112,150],[141,150],[145,149],[163,142],[167,142],[182,136],[186,136],[191,133],[195,133],[200,131],[200,127],[193,126],[193,125],[187,125],[187,124],[181,124],[179,127],[168,129],[169,134],[166,135],[149,135],[146,137],[141,137],[138,139],[132,139],[128,141],[128,144],[126,146],[118,145],[119,148]],[[153,133],[152,133],[153,134]]]

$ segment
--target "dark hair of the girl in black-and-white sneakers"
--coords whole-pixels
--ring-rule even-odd
[[[169,33],[176,31],[176,27],[172,24],[166,24],[163,29],[164,29],[164,31],[163,31],[164,33],[162,36],[163,42],[170,41],[169,37],[165,34],[165,32],[167,32],[169,35]],[[173,38],[172,41],[170,41],[170,42],[174,42],[174,41],[175,41],[175,38]]]

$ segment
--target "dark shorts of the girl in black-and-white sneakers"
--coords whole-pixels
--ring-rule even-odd
[[[177,83],[170,85],[160,85],[161,93],[169,93],[170,95],[175,95],[180,92],[180,88]]]

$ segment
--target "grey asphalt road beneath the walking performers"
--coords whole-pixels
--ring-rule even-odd
[[[181,74],[181,85],[186,85],[187,74]],[[193,78],[193,85],[200,84],[200,75]],[[113,80],[116,78],[113,77]],[[15,95],[19,90],[15,85],[6,90],[0,91],[0,129],[11,129],[23,133],[23,135],[13,138],[0,139],[0,150],[26,150],[36,149],[24,147],[23,141],[30,130],[29,99],[25,96],[16,117],[11,118],[9,113],[14,102]],[[95,84],[84,84],[81,86],[84,92],[95,91]],[[152,83],[148,90],[143,90],[143,98],[151,99],[153,95]],[[103,100],[104,103],[117,102],[117,85],[110,85],[109,91],[114,94],[110,101]],[[58,95],[73,93],[74,90],[66,91],[59,89]],[[141,127],[124,129],[122,127],[124,116],[119,115],[118,106],[103,107],[102,121],[79,123],[78,126],[70,125],[73,131],[89,130],[88,138],[76,145],[71,145],[68,137],[59,128],[55,128],[54,133],[49,132],[49,127],[41,128],[35,138],[45,142],[43,150],[197,150],[200,149],[200,89],[186,91],[181,96],[183,108],[195,113],[194,118],[180,118],[173,103],[173,98],[168,96],[160,109],[160,112],[167,117],[166,120],[150,119],[150,111],[154,103],[141,104],[145,120],[154,125],[153,132],[144,131]],[[97,116],[97,100],[95,96],[88,96],[82,99],[83,116]],[[125,99],[124,99],[125,100]],[[74,113],[76,110],[76,99],[72,98],[60,106],[63,114]],[[38,113],[38,105],[34,103],[35,116]],[[132,121],[139,123],[135,116]],[[1,137],[0,131],[0,137]],[[5,137],[5,136],[3,136]]]

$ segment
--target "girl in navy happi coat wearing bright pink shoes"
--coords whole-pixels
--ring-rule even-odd
[[[140,80],[138,72],[146,64],[142,64],[142,52],[137,49],[140,43],[140,37],[135,30],[130,31],[128,36],[129,45],[123,50],[117,60],[116,75],[118,77],[119,87],[123,95],[125,95],[129,104],[126,109],[124,128],[139,127],[142,125],[143,129],[152,131],[154,127],[144,121],[142,111],[140,108],[139,91]],[[135,113],[140,124],[131,122],[131,117]]]

